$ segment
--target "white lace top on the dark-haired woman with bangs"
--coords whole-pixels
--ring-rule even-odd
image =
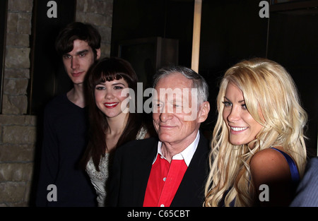
[[[141,128],[139,133],[136,136],[136,140],[141,140],[145,138],[147,130],[145,128]],[[95,169],[95,165],[93,163],[93,159],[90,158],[88,164],[86,165],[86,172],[90,177],[90,181],[92,182],[96,193],[98,195],[97,201],[98,206],[103,207],[105,206],[105,199],[106,199],[106,182],[108,179],[109,174],[109,162],[110,162],[110,153],[106,153],[104,157],[100,158],[100,165],[98,166],[100,171],[98,172]]]

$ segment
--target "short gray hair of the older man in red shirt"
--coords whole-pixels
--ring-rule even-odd
[[[196,71],[184,66],[167,66],[160,68],[153,76],[153,88],[157,85],[158,81],[162,78],[169,76],[171,73],[181,73],[184,77],[192,80],[192,87],[198,90],[197,101],[198,105],[208,101],[208,83]]]

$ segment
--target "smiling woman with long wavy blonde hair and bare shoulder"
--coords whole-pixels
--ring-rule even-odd
[[[289,205],[307,158],[307,114],[289,73],[242,61],[226,71],[217,108],[204,206]]]

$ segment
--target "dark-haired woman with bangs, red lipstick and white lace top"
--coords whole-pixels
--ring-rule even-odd
[[[131,64],[117,57],[101,59],[88,73],[90,128],[83,163],[98,193],[98,206],[105,206],[114,149],[149,136],[142,114],[136,112],[137,81]],[[127,93],[129,90],[134,92]],[[134,112],[129,111],[131,105],[134,105]]]

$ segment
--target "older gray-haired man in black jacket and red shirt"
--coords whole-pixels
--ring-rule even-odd
[[[155,75],[153,125],[158,138],[117,148],[108,205],[201,206],[209,145],[199,128],[208,117],[208,85],[182,66]]]

